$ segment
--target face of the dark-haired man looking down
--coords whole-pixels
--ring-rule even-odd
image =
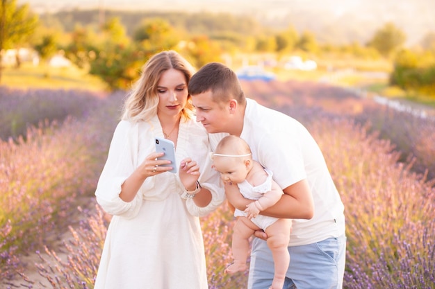
[[[211,91],[192,96],[192,103],[196,107],[197,121],[208,133],[229,132],[229,108],[224,103],[215,103]]]

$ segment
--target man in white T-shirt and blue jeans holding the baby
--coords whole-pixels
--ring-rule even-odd
[[[295,119],[245,98],[231,69],[212,62],[188,85],[200,121],[216,144],[227,134],[245,139],[254,159],[274,172],[284,195],[266,216],[292,218],[290,265],[284,288],[342,288],[345,268],[345,217],[340,195],[311,134]],[[227,198],[244,210],[249,200],[225,184]],[[264,232],[252,243],[249,289],[270,288],[273,259]],[[275,288],[276,289],[276,288]]]

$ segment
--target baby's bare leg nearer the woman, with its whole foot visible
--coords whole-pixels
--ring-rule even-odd
[[[249,256],[249,237],[259,228],[246,217],[238,217],[233,231],[233,256],[234,262],[225,269],[225,272],[233,274],[246,270],[246,261]]]

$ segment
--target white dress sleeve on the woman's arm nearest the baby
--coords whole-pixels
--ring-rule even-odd
[[[198,207],[192,199],[186,200],[186,207],[192,216],[203,217],[211,213],[219,207],[225,200],[225,191],[223,186],[220,186],[220,177],[217,171],[212,168],[211,157],[208,153],[204,160],[204,170],[199,177],[201,186],[211,192],[211,202],[206,207]]]

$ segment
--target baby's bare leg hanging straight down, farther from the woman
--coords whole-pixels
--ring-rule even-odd
[[[274,261],[274,277],[272,281],[273,289],[282,289],[286,272],[290,263],[290,254],[288,254],[288,241],[290,240],[290,219],[279,219],[265,229],[268,234],[268,246],[272,251]]]

